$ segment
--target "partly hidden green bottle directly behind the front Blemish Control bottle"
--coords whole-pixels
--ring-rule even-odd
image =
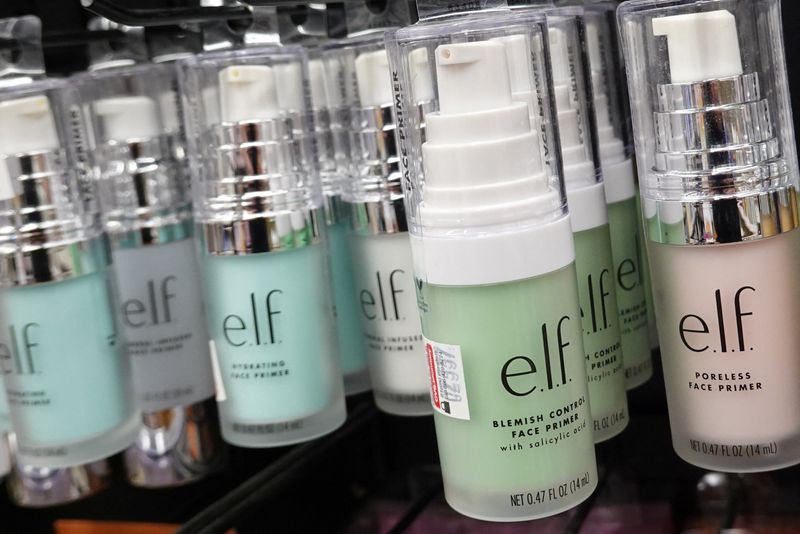
[[[583,70],[581,15],[578,8],[551,10],[547,24],[564,184],[575,238],[589,399],[595,442],[600,442],[622,432],[629,415],[611,233],[602,172],[593,150],[591,93]],[[506,38],[506,47],[517,52],[509,56],[509,65],[526,67],[529,54],[519,43],[525,43],[524,37]],[[526,79],[528,70],[523,71]]]

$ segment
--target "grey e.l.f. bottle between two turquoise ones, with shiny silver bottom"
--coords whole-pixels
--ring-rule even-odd
[[[197,480],[222,453],[189,177],[176,159],[174,78],[171,65],[144,64],[76,79],[93,124],[117,320],[142,412],[125,464],[144,487]]]

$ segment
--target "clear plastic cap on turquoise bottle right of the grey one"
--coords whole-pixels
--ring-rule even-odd
[[[195,219],[231,224],[321,206],[308,64],[296,46],[180,61]]]

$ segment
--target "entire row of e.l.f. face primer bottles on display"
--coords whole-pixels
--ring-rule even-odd
[[[457,511],[551,515],[596,487],[656,325],[682,458],[800,462],[778,1],[624,3],[635,135],[613,3],[418,7],[345,40],[3,80],[19,503],[58,499],[33,479],[90,491],[122,451],[134,484],[188,482],[220,438],[314,439],[371,389],[433,414]]]

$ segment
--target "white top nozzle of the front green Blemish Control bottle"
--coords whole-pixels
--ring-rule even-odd
[[[441,112],[468,113],[510,106],[511,86],[505,56],[505,47],[492,41],[437,47]]]

